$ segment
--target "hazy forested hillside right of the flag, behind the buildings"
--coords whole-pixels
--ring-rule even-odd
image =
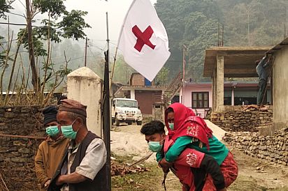
[[[204,49],[217,46],[218,23],[224,46],[270,46],[285,35],[286,0],[157,0],[155,8],[168,33],[170,78],[182,70],[185,44],[187,77],[210,80],[202,77]]]

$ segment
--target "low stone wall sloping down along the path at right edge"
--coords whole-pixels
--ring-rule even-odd
[[[273,136],[261,136],[258,132],[227,132],[223,139],[247,155],[288,165],[288,128],[276,130]]]

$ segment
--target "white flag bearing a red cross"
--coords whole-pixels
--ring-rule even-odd
[[[168,36],[150,0],[132,2],[120,32],[118,49],[129,66],[150,81],[168,60]]]

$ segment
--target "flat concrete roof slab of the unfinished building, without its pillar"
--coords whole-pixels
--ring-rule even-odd
[[[217,55],[224,55],[224,77],[258,77],[255,61],[271,47],[211,47],[206,49],[204,77],[212,77]]]

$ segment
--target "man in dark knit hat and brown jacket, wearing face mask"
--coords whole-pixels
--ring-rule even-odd
[[[63,137],[58,127],[57,108],[55,106],[43,109],[43,115],[43,125],[48,137],[40,144],[35,157],[36,176],[41,184],[41,191],[47,190],[70,141]]]

